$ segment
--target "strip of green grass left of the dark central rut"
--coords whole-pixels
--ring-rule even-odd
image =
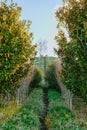
[[[40,130],[39,115],[42,109],[42,90],[34,89],[21,111],[7,122],[1,123],[0,130]]]

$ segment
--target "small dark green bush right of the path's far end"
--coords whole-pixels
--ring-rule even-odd
[[[55,62],[48,66],[45,73],[45,80],[48,82],[49,88],[57,89],[60,92],[60,87],[56,80]]]

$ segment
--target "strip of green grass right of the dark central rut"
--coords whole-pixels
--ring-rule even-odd
[[[49,110],[45,118],[48,130],[83,130],[72,112],[64,106],[61,95],[49,90]]]

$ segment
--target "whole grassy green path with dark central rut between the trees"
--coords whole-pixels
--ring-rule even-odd
[[[44,92],[33,89],[22,109],[6,123],[0,123],[0,130],[86,130],[56,90]]]

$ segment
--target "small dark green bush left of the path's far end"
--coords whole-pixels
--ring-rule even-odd
[[[38,66],[35,66],[34,68],[34,77],[30,83],[30,87],[40,87],[42,81],[42,72]]]

